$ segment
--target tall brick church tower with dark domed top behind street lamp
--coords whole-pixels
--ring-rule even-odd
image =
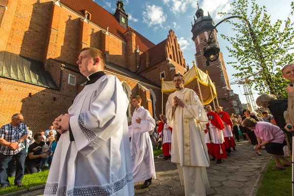
[[[223,107],[223,110],[229,114],[239,114],[242,111],[239,111],[237,100],[231,89],[222,53],[220,52],[219,59],[214,62],[209,62],[203,55],[209,47],[217,46],[220,48],[217,29],[214,29],[211,35],[214,43],[208,46],[205,42],[205,40],[208,40],[208,36],[214,28],[215,23],[209,13],[208,16],[204,16],[203,10],[199,8],[199,6],[195,15],[196,18],[194,16],[194,24],[191,23],[191,31],[193,33],[192,40],[194,41],[196,48],[196,66],[203,72],[208,71],[210,78],[215,82],[219,104]]]

